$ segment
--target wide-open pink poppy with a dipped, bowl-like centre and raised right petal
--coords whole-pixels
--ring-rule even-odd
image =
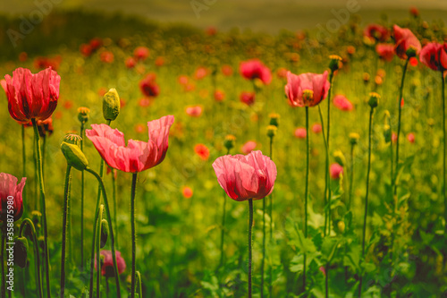
[[[86,135],[107,165],[123,172],[137,173],[160,164],[168,149],[169,130],[173,115],[148,122],[148,142],[129,140],[124,134],[105,124],[91,124]]]

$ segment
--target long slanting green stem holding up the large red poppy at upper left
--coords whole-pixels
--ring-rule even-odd
[[[42,157],[40,154],[40,146],[39,146],[39,136],[38,136],[38,124],[36,123],[36,119],[31,119],[32,126],[34,127],[34,136],[36,138],[36,155],[38,158],[38,182],[39,182],[39,190],[40,190],[40,204],[42,207],[42,227],[44,229],[44,259],[45,259],[45,273],[46,273],[46,296],[47,298],[51,297],[51,288],[50,288],[50,264],[49,264],[49,256],[48,256],[48,230],[46,228],[46,200],[45,200],[45,185],[44,185],[44,175],[42,171]]]

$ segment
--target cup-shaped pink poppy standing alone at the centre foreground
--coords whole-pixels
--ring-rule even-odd
[[[225,155],[213,163],[217,181],[232,200],[261,200],[273,192],[276,180],[274,162],[253,151],[249,155]]]

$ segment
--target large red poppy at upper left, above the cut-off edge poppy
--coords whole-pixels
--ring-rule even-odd
[[[14,120],[29,123],[32,118],[45,120],[53,114],[59,98],[61,77],[51,68],[38,73],[17,68],[13,77],[4,76],[8,109]]]

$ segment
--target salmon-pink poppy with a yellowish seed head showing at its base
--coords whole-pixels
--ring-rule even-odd
[[[331,84],[327,81],[327,71],[323,74],[287,72],[285,94],[291,106],[316,106],[327,97]]]

